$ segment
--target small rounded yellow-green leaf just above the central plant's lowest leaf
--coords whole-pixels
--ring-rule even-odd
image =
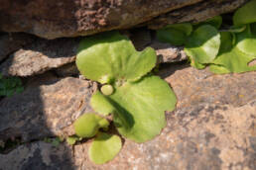
[[[75,133],[80,137],[93,137],[100,127],[108,127],[109,123],[93,113],[86,113],[74,122]]]

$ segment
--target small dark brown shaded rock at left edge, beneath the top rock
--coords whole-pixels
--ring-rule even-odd
[[[8,54],[18,50],[22,46],[33,42],[34,38],[26,34],[4,34],[0,36],[0,62]]]

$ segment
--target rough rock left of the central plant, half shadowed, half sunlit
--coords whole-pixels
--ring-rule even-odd
[[[91,111],[88,81],[45,74],[28,84],[22,94],[0,101],[0,140],[21,137],[24,142],[73,134],[73,121]]]

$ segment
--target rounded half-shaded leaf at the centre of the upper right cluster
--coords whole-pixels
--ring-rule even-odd
[[[220,35],[209,25],[200,26],[186,42],[185,52],[194,62],[210,63],[217,55]]]

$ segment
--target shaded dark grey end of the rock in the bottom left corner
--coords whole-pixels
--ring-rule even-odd
[[[0,155],[0,170],[74,169],[71,149],[60,144],[55,147],[43,141],[19,146],[8,155]]]

